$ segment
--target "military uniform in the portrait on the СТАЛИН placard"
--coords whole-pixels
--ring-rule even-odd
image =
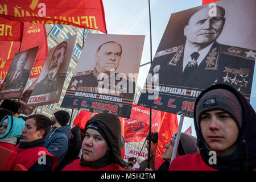
[[[65,73],[57,73],[52,80],[49,80],[48,75],[35,85],[32,95],[37,96],[44,93],[56,92],[59,95],[62,91],[65,81]]]

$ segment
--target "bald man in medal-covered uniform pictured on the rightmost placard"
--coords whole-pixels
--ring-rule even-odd
[[[204,6],[189,16],[183,44],[156,52],[149,72],[151,81],[199,89],[224,83],[250,94],[255,51],[218,43],[227,20],[225,9],[216,6],[214,15],[209,11]]]

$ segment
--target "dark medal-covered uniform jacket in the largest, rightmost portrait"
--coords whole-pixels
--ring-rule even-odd
[[[156,53],[149,72],[152,74],[153,82],[199,89],[224,83],[233,86],[241,93],[250,94],[255,51],[214,42],[196,71],[184,81],[184,47],[183,44]]]

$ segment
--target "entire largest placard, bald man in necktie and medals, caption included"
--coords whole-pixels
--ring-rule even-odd
[[[200,92],[218,83],[233,86],[250,100],[256,55],[252,42],[255,43],[255,36],[230,29],[242,27],[241,22],[250,25],[246,27],[248,32],[255,27],[255,21],[250,19],[255,11],[246,15],[246,21],[240,16],[241,12],[247,13],[250,3],[253,1],[247,0],[240,6],[238,0],[222,0],[215,2],[214,14],[210,13],[212,6],[209,5],[172,14],[147,77],[147,88],[148,85],[155,86],[158,97],[148,99],[152,93],[144,86],[138,105],[174,114],[193,114],[193,104]],[[242,38],[244,42],[234,41],[236,38]],[[251,39],[251,43],[246,39]]]

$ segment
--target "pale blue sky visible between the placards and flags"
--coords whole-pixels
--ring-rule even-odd
[[[108,34],[146,35],[142,52],[141,64],[150,61],[150,24],[148,0],[102,0],[105,9],[105,19]],[[172,13],[200,6],[201,0],[151,0],[151,33],[152,57],[166,29]],[[150,64],[139,69],[137,84],[143,88]],[[254,68],[255,72],[255,68]],[[256,74],[253,78],[251,105],[256,108]],[[178,119],[180,117],[178,116]],[[184,118],[181,131],[192,126],[192,135],[196,136],[193,119]]]

